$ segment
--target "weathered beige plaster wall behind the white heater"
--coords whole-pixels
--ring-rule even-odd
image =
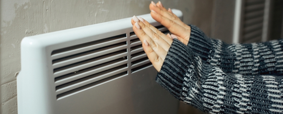
[[[182,10],[186,24],[196,24],[211,34],[214,1],[161,1],[167,8]],[[20,43],[23,37],[147,14],[149,3],[150,0],[1,0],[2,112],[17,113],[15,74],[21,70]]]

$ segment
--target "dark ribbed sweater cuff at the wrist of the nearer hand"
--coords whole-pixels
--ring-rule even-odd
[[[194,66],[193,55],[185,44],[177,39],[173,40],[166,55],[156,82],[166,88],[174,97],[182,100],[184,76],[191,66]]]

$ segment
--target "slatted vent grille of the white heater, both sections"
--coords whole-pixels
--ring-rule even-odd
[[[156,28],[165,34],[170,33],[162,25]],[[130,39],[129,52],[127,39]],[[125,33],[54,50],[51,57],[57,99],[127,75],[128,53],[131,73],[152,66],[134,32],[130,32],[128,37]]]

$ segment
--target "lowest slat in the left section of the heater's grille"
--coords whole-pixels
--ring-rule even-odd
[[[76,89],[73,89],[73,90],[69,90],[69,91],[66,91],[64,93],[57,94],[57,100],[60,100],[60,99],[62,99],[64,97],[67,97],[69,95],[73,95],[73,94],[79,93],[80,91],[83,91],[83,90],[86,90],[86,89],[89,89],[89,88],[93,88],[93,87],[98,86],[100,84],[112,81],[112,80],[117,79],[119,77],[123,77],[123,76],[125,76],[127,74],[128,74],[128,71],[124,71],[122,73],[113,75],[111,77],[104,78],[104,79],[96,81],[96,82],[92,82],[90,84],[81,86],[79,88],[76,88]]]

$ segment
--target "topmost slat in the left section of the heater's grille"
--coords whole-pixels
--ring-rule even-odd
[[[96,41],[91,41],[88,43],[83,43],[83,44],[78,44],[75,46],[70,46],[66,48],[61,48],[58,50],[54,50],[51,53],[52,59],[58,59],[61,57],[77,54],[77,53],[82,53],[88,50],[93,50],[95,48],[100,48],[106,45],[111,45],[117,42],[123,42],[127,40],[126,33],[121,34],[121,35],[116,35],[113,37],[108,37]]]

